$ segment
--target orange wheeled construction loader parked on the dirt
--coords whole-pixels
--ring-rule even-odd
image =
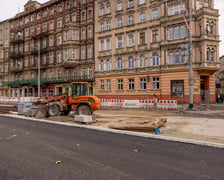
[[[100,109],[100,100],[96,96],[88,95],[87,82],[72,82],[71,93],[44,98],[41,104],[48,106],[49,116],[67,115],[73,111],[78,115],[92,115]]]

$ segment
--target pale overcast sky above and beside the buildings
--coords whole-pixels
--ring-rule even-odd
[[[23,11],[23,6],[28,0],[1,0],[0,21],[13,17],[16,13]],[[39,3],[45,3],[48,0],[37,0]],[[224,1],[215,0],[215,8],[219,9],[219,33],[220,33],[220,56],[224,55]]]

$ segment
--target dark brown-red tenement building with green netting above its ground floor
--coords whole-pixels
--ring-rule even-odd
[[[94,81],[92,0],[29,0],[9,19],[10,96],[52,96],[69,92],[73,81]],[[2,59],[1,59],[2,62]],[[40,78],[38,78],[40,71]]]

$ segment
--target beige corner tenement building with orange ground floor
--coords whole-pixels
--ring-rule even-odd
[[[214,102],[218,17],[214,0],[95,0],[95,95],[188,102],[191,32],[194,102]]]

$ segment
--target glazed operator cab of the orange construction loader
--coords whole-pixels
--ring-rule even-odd
[[[72,82],[71,97],[88,96],[88,82]]]

